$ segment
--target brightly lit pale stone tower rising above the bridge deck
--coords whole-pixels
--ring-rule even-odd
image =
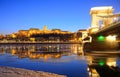
[[[104,6],[104,7],[93,7],[90,10],[90,15],[92,16],[92,23],[89,29],[89,33],[94,33],[102,27],[107,26],[108,24],[113,22],[112,18],[103,18],[103,16],[113,15],[113,7],[112,6]]]

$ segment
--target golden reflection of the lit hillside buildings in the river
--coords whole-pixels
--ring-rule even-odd
[[[39,59],[61,58],[61,56],[81,55],[79,44],[40,44],[40,45],[0,45],[0,53],[9,53],[19,58]]]

